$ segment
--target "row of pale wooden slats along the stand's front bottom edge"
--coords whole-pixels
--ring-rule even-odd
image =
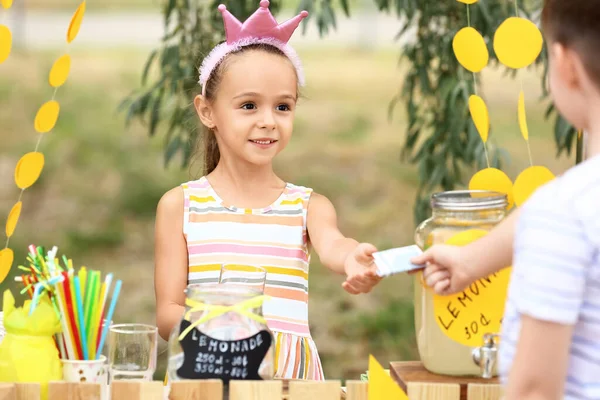
[[[287,389],[287,390],[286,390]],[[447,383],[412,382],[407,386],[410,400],[459,400],[460,386]],[[114,382],[111,400],[163,400],[162,382]],[[468,387],[468,400],[500,400],[499,391],[489,385]],[[222,400],[220,380],[174,382],[170,400]],[[0,400],[40,400],[40,386],[31,383],[0,383]],[[93,383],[51,382],[48,400],[101,400],[100,385]],[[366,382],[348,381],[346,391],[339,381],[232,381],[229,400],[368,400]],[[394,399],[386,399],[394,400]]]

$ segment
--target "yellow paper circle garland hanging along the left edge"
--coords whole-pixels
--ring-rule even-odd
[[[0,0],[0,2],[4,8],[9,8],[12,5],[12,0]],[[66,34],[67,44],[73,42],[79,34],[84,15],[85,0],[80,3],[71,18]],[[10,54],[11,41],[12,37],[10,30],[5,26],[0,25],[0,63],[2,63]],[[56,59],[48,76],[50,86],[55,89],[62,86],[69,76],[70,69],[71,56],[64,54]],[[6,245],[4,249],[0,250],[0,283],[8,276],[14,261],[14,252],[8,246],[21,215],[21,209],[23,207],[21,197],[23,191],[31,187],[39,179],[42,170],[44,169],[44,155],[38,151],[38,148],[42,140],[42,134],[52,131],[58,121],[60,104],[55,100],[55,96],[56,90],[54,91],[52,99],[42,104],[36,113],[33,127],[35,131],[38,132],[39,137],[35,150],[23,155],[15,167],[15,184],[21,189],[21,193],[19,199],[10,210],[6,221]]]

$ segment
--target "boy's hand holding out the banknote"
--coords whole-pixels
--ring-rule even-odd
[[[435,245],[411,262],[426,264],[423,281],[442,296],[462,292],[475,280],[464,247]]]

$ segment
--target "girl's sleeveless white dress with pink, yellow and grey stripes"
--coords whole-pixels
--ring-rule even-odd
[[[323,380],[308,326],[306,214],[312,189],[288,183],[269,207],[242,209],[225,204],[206,177],[182,187],[188,283],[218,282],[221,264],[265,268],[270,300],[263,314],[276,343],[275,377]]]

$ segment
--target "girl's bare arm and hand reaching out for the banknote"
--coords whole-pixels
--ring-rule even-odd
[[[337,225],[333,204],[325,196],[313,193],[308,203],[307,230],[321,263],[347,276],[342,287],[349,293],[368,293],[381,279],[376,274],[375,246],[345,237]]]

